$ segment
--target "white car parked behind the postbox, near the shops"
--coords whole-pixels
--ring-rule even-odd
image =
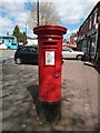
[[[70,48],[67,48],[66,45],[62,45],[62,57],[63,59],[77,59],[77,60],[82,60],[83,58],[83,52],[81,51],[73,51]]]

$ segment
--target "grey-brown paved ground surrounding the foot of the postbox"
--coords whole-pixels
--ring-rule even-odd
[[[59,123],[38,117],[30,89],[38,86],[38,66],[2,62],[3,131],[97,131],[98,71],[81,61],[67,60],[62,66],[62,116]],[[1,98],[0,98],[1,99]]]

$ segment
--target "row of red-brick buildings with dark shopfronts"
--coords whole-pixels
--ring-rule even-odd
[[[100,49],[100,1],[79,28],[77,49],[83,51],[88,60],[97,60]]]

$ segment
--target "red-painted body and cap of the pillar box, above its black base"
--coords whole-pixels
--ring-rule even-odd
[[[33,29],[39,43],[39,99],[42,102],[61,100],[62,34],[59,25],[41,25]]]

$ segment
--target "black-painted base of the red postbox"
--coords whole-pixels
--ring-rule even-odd
[[[38,104],[38,115],[42,122],[59,122],[61,119],[61,101],[41,102]]]

